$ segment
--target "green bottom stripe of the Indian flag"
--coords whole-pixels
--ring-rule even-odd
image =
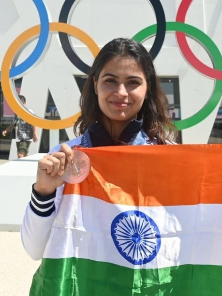
[[[222,266],[131,269],[87,259],[43,259],[30,296],[220,296]]]

